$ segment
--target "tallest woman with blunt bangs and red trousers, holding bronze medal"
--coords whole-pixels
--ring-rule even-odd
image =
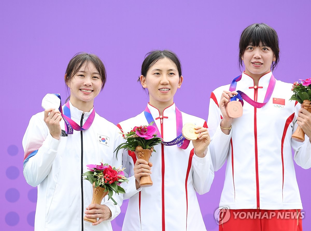
[[[272,74],[279,61],[273,28],[248,26],[239,49],[245,71],[211,93],[208,116],[214,169],[227,160],[219,230],[300,231],[302,204],[291,149],[299,166],[311,167],[311,113],[290,101],[292,84]],[[298,125],[306,134],[303,143],[291,139]]]

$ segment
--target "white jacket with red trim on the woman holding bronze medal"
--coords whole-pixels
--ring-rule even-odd
[[[255,101],[263,102],[272,72],[259,79],[246,74],[237,82],[236,90],[246,93]],[[311,167],[311,144],[291,139],[300,104],[290,101],[292,84],[276,81],[272,97],[262,108],[254,108],[246,101],[243,116],[233,119],[229,135],[220,130],[222,115],[218,104],[223,90],[211,93],[208,126],[212,137],[211,158],[215,171],[227,160],[224,188],[220,207],[230,209],[302,209],[296,181],[295,162]]]

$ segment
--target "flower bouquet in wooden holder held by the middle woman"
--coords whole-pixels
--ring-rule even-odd
[[[156,135],[157,129],[155,126],[152,126],[153,123],[154,122],[151,122],[149,125],[136,126],[128,133],[121,132],[126,142],[120,144],[114,151],[117,151],[117,154],[120,149],[135,152],[137,158],[146,160],[149,163],[151,153],[153,151],[156,152],[153,146],[162,142],[162,138]],[[153,182],[150,176],[141,177],[139,183],[141,187],[149,187],[152,186],[152,184]]]

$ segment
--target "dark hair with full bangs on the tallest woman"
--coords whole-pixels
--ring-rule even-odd
[[[263,46],[268,46],[272,49],[275,55],[275,62],[272,62],[272,70],[276,67],[279,61],[279,38],[276,31],[265,23],[252,24],[244,29],[240,37],[239,43],[239,67],[243,66],[242,56],[248,45],[259,46],[260,42]]]

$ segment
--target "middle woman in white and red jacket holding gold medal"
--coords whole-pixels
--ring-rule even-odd
[[[128,151],[125,167],[131,177],[124,195],[129,203],[122,230],[206,230],[196,192],[209,191],[214,178],[210,138],[205,120],[179,111],[173,101],[183,82],[176,54],[148,53],[139,82],[148,90],[149,103],[142,113],[118,126],[126,134],[135,126],[154,122],[163,142],[154,147],[149,163]],[[141,177],[148,175],[153,185],[140,186]]]

